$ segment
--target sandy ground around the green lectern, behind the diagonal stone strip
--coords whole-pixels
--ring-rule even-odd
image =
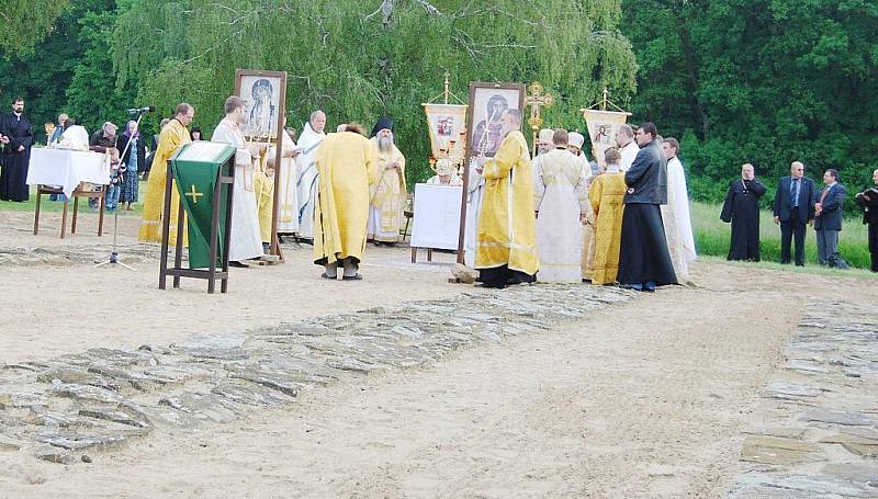
[[[99,238],[90,231],[97,227],[91,214],[83,216],[80,233],[65,239],[55,230],[60,215],[44,217],[40,235],[33,236],[32,214],[0,213],[0,247],[112,243],[112,236]],[[120,245],[136,242],[138,224],[139,217],[120,217]],[[406,250],[370,246],[364,281],[329,282],[319,279],[322,268],[312,262],[309,246],[288,253],[281,265],[232,269],[226,295],[218,293],[218,283],[217,293],[207,295],[206,281],[200,280],[182,280],[179,290],[171,290],[168,280],[168,290],[161,291],[158,261],[132,262],[134,272],[89,264],[0,265],[0,363],[50,359],[92,347],[168,344],[195,332],[245,331],[461,291],[448,284],[448,268],[438,263],[453,262],[451,254],[435,253],[436,264],[412,265]],[[121,254],[125,257],[124,249]]]

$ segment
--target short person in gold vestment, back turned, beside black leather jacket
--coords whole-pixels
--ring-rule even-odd
[[[588,199],[595,211],[595,258],[592,284],[612,284],[619,270],[619,243],[622,238],[624,211],[624,173],[619,167],[617,149],[605,151],[607,172],[592,181]]]

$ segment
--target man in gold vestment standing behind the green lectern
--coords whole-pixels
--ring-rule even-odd
[[[149,170],[149,179],[146,183],[146,196],[144,197],[144,217],[140,223],[138,239],[144,242],[161,242],[161,215],[165,209],[165,185],[168,179],[168,159],[180,148],[189,144],[192,139],[189,136],[187,125],[192,123],[195,110],[181,103],[177,106],[173,120],[170,121],[158,136],[158,147],[153,157],[153,168]],[[177,194],[177,186],[172,186],[170,233],[168,243],[177,243],[177,212],[180,207],[180,196]],[[185,229],[183,229],[183,241],[187,240]]]

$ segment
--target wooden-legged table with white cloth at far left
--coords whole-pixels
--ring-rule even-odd
[[[97,199],[99,204],[98,236],[103,234],[104,189],[89,191],[80,189],[82,183],[105,186],[110,184],[110,157],[105,154],[71,150],[34,148],[27,169],[27,184],[36,185],[36,206],[34,209],[34,235],[40,230],[40,204],[43,194],[64,194],[61,235],[67,225],[67,207],[74,200],[74,218],[70,234],[76,233],[79,199]]]

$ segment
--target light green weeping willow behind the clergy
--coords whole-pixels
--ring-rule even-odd
[[[138,105],[190,102],[206,131],[235,69],[286,71],[291,126],[315,109],[331,126],[391,116],[415,181],[429,168],[420,103],[446,70],[464,99],[470,81],[541,81],[552,126],[584,127],[577,110],[605,86],[627,102],[637,66],[620,13],[619,0],[123,0],[111,52]]]

